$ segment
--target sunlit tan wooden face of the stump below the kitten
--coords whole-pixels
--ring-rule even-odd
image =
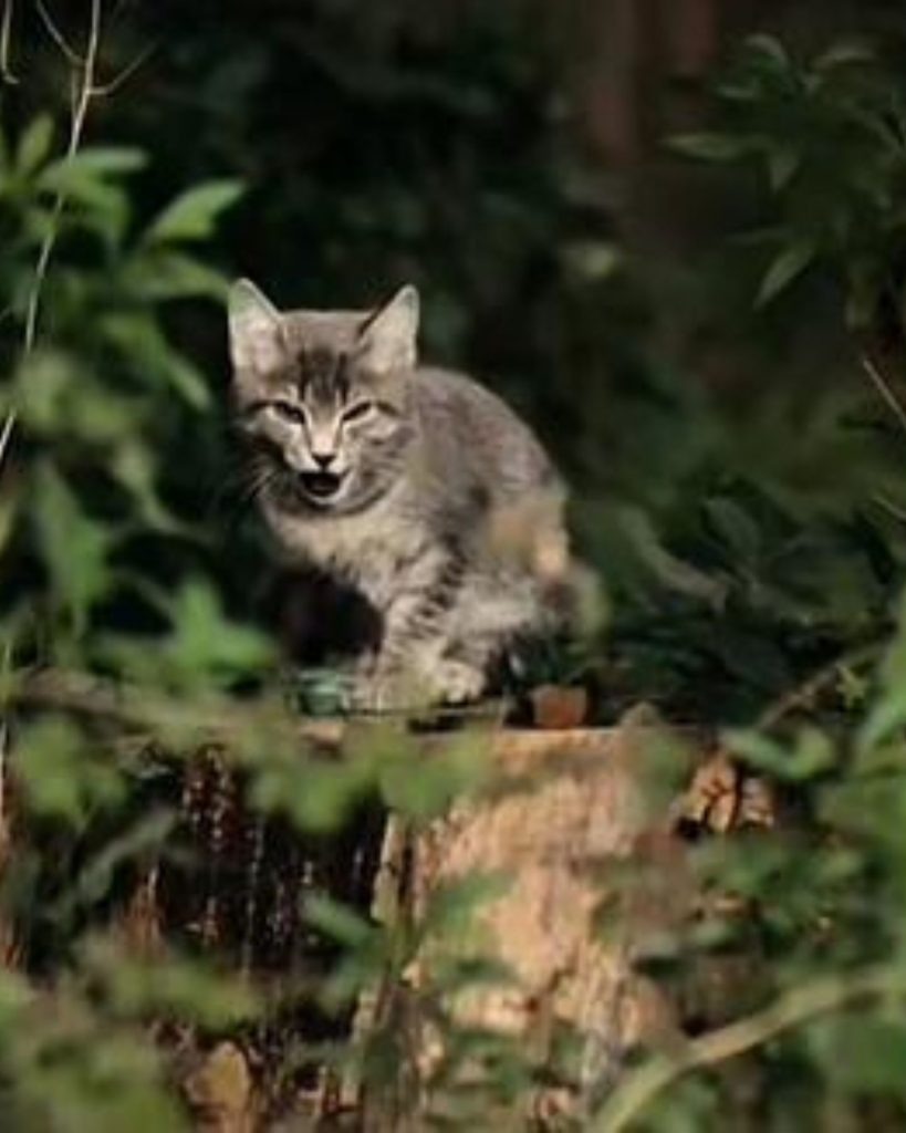
[[[649,930],[682,917],[689,905],[667,799],[649,790],[658,777],[652,772],[663,769],[663,739],[633,718],[607,730],[498,732],[492,746],[499,780],[489,795],[458,802],[417,832],[399,819],[390,825],[376,900],[384,921],[418,922],[433,896],[471,875],[503,879],[502,892],[480,906],[467,937],[452,946],[495,956],[514,980],[456,995],[452,1012],[463,1026],[516,1039],[539,1066],[549,1062],[559,1032],[578,1040],[572,1080],[539,1085],[525,1099],[522,1117],[542,1126],[587,1115],[627,1050],[657,1045],[674,1029],[667,1004],[633,966]],[[627,900],[629,860],[639,867],[639,880]],[[429,943],[410,966],[405,983],[416,997],[450,946]],[[390,1002],[385,994],[369,1005],[359,1029],[379,1031]],[[430,1025],[418,1041],[418,1104],[416,1085],[409,1098],[396,1099],[394,1113],[385,1096],[366,1099],[366,1127],[421,1127],[444,1042]]]

